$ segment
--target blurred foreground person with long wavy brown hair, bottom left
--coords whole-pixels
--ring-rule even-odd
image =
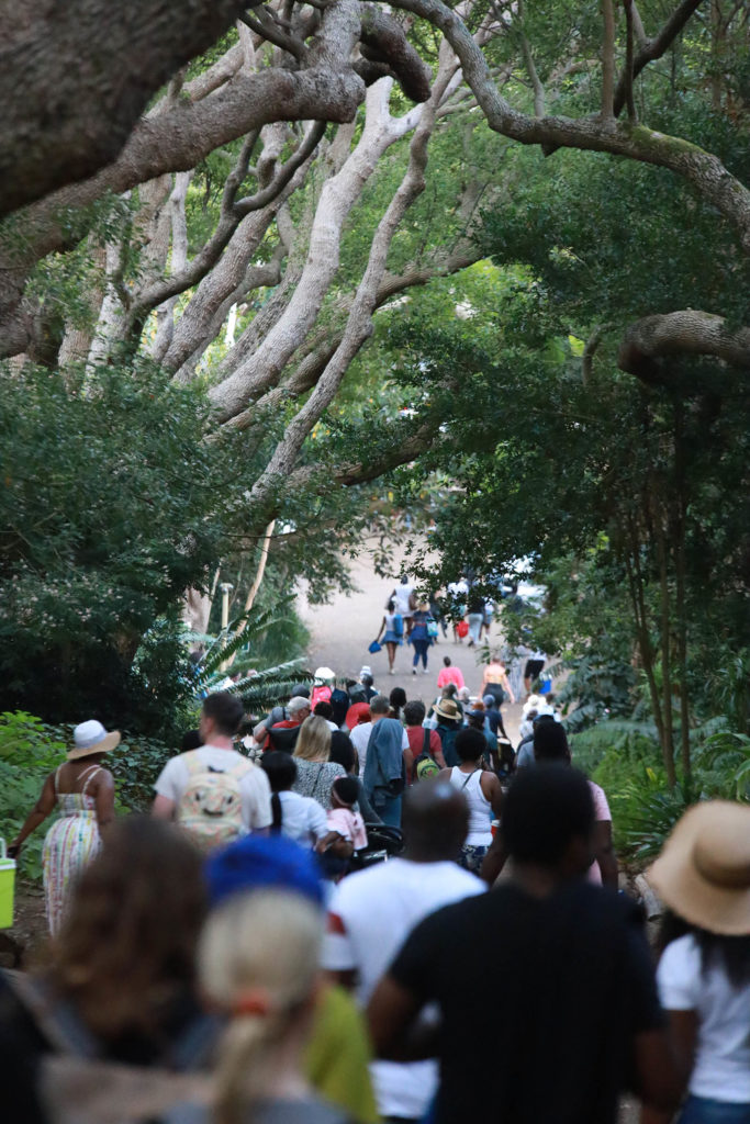
[[[102,1120],[102,1094],[108,1118],[118,1097],[130,1108],[154,1094],[163,1107],[183,1088],[177,1071],[208,1064],[218,1025],[196,980],[201,867],[173,825],[116,821],[75,882],[49,964],[0,978],[0,1040],[21,1048],[36,1088],[47,1091],[47,1122]],[[6,1105],[9,1094],[4,1082]],[[161,1118],[157,1108],[146,1115]]]

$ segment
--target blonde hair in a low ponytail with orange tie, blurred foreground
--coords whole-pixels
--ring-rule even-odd
[[[200,985],[232,1016],[218,1054],[217,1124],[252,1120],[273,1051],[314,995],[322,942],[320,910],[287,890],[240,894],[209,917],[198,950]],[[255,989],[266,1009],[260,1000],[256,1009],[243,1007]]]

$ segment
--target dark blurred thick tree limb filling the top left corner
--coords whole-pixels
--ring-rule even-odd
[[[148,99],[252,0],[24,0],[2,17],[0,215],[114,160]]]

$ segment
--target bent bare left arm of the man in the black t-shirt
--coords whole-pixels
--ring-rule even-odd
[[[434,1058],[437,1027],[419,1023],[422,1003],[386,975],[370,997],[367,1019],[376,1057],[389,1061],[423,1061]]]

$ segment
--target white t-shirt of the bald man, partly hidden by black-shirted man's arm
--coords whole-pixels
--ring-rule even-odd
[[[328,906],[323,967],[356,970],[356,999],[364,1007],[418,922],[442,906],[486,889],[454,862],[391,859],[350,874],[338,883]],[[370,1072],[382,1116],[415,1120],[426,1113],[437,1088],[436,1061],[376,1061]]]

